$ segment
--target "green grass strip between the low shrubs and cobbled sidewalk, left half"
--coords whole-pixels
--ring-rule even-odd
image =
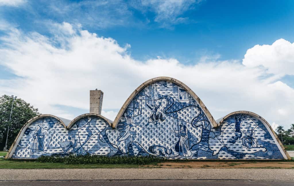
[[[77,164],[66,165],[64,163],[40,163],[34,160],[4,160],[0,158],[0,169],[50,169],[50,168],[138,168],[141,165],[128,164]]]

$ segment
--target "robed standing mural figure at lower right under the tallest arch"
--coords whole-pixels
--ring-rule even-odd
[[[179,137],[179,141],[176,144],[175,149],[176,151],[178,151],[180,156],[189,157],[192,155],[189,142],[190,134],[186,125],[184,125],[183,123],[183,121],[179,121],[178,131],[175,130],[176,136]]]

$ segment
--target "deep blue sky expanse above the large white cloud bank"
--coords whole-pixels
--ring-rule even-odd
[[[201,1],[189,4],[186,11],[178,13],[176,18],[186,18],[178,23],[155,21],[152,6],[141,11],[132,6],[136,1],[116,1],[96,7],[86,4],[59,12],[63,6],[82,2],[30,1],[19,7],[2,6],[0,15],[22,31],[44,35],[50,34],[46,28],[50,21],[82,24],[83,29],[115,38],[122,46],[130,44],[129,51],[139,60],[165,56],[177,58],[181,63],[195,63],[205,52],[220,55],[222,60],[242,59],[246,50],[256,44],[271,44],[280,38],[294,41],[293,1]],[[49,10],[53,6],[59,10]],[[120,11],[122,7],[125,10]],[[104,15],[101,11],[105,11]],[[96,19],[95,16],[105,17]],[[108,16],[111,23],[105,20]]]

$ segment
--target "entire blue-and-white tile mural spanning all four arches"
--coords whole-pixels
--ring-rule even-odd
[[[168,159],[287,159],[268,125],[245,113],[213,128],[199,103],[172,81],[146,85],[128,104],[116,128],[86,115],[66,129],[53,117],[32,122],[12,158],[41,155],[146,156]]]

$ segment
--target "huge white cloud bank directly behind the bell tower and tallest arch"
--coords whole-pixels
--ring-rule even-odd
[[[113,120],[116,112],[111,110],[119,110],[141,83],[170,76],[187,84],[216,119],[249,110],[286,128],[293,123],[293,88],[268,76],[264,68],[217,61],[215,56],[193,65],[173,58],[137,61],[128,55],[129,46],[121,47],[112,38],[66,23],[55,27],[71,34],[60,31],[47,38],[11,29],[1,38],[6,47],[0,49],[0,64],[21,78],[0,80],[0,94],[17,95],[42,113],[71,119],[76,115],[51,105],[88,109],[89,90],[98,88],[104,92],[103,110],[108,110],[103,115]],[[247,56],[243,61],[248,61]]]

